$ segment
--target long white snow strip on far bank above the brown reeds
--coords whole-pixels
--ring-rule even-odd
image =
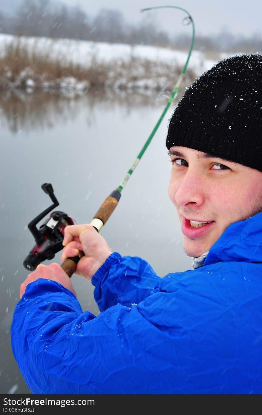
[[[5,46],[17,37],[0,34],[0,57],[4,56]],[[45,37],[20,37],[20,44],[26,46],[29,51],[35,51],[41,55],[49,54],[51,58],[73,62],[81,66],[89,67],[93,59],[98,63],[129,62],[130,58],[147,59],[151,62],[161,61],[168,64],[184,65],[188,52],[160,48],[156,46],[111,44],[105,42],[91,42],[74,39],[50,39]],[[215,61],[206,60],[200,51],[192,51],[188,68],[198,68],[205,71]]]

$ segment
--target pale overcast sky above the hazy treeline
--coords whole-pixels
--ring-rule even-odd
[[[235,35],[262,34],[261,0],[60,0],[67,5],[79,5],[88,15],[93,16],[102,8],[120,10],[125,20],[137,23],[146,13],[154,14],[159,27],[170,33],[189,31],[182,26],[186,14],[176,9],[160,9],[141,13],[145,7],[163,5],[178,6],[186,9],[193,17],[196,34],[215,34],[222,28],[228,28]]]

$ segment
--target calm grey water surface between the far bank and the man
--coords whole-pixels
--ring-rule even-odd
[[[55,210],[77,223],[90,222],[122,181],[166,103],[161,94],[131,92],[0,96],[0,393],[30,393],[12,354],[10,325],[27,276],[23,261],[34,246],[27,225],[51,205],[42,183],[54,188],[60,203]],[[191,268],[167,194],[171,163],[164,143],[173,109],[171,105],[101,230],[113,251],[146,259],[159,276]],[[61,264],[60,253],[53,261]],[[91,282],[76,276],[72,281],[82,309],[98,315]]]

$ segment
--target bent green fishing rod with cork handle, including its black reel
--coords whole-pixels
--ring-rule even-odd
[[[155,6],[155,7],[147,7],[145,9],[142,9],[141,12],[145,12],[148,10],[153,9],[161,9],[161,8],[174,8],[182,10],[187,14],[187,17],[183,19],[183,21],[186,24],[192,24],[192,38],[191,38],[191,45],[189,48],[189,54],[186,59],[186,63],[184,64],[184,67],[181,71],[181,74],[179,76],[179,79],[174,87],[174,90],[171,93],[171,96],[167,102],[167,105],[165,106],[159,120],[157,121],[157,124],[155,125],[154,129],[152,130],[151,134],[149,135],[147,141],[145,142],[144,146],[142,147],[140,153],[137,155],[135,161],[133,162],[130,169],[125,174],[122,182],[120,185],[113,190],[112,193],[104,200],[96,214],[94,215],[93,219],[91,220],[90,224],[97,230],[97,232],[100,232],[102,227],[105,225],[105,223],[108,221],[109,217],[112,215],[113,211],[115,210],[115,207],[117,206],[120,197],[121,197],[121,191],[125,187],[127,181],[129,180],[131,174],[137,167],[137,164],[141,160],[144,152],[146,151],[147,147],[149,146],[150,142],[152,141],[152,138],[154,137],[154,134],[156,133],[160,123],[162,122],[164,115],[166,114],[169,106],[173,102],[173,100],[176,98],[176,95],[179,90],[179,86],[184,78],[186,68],[189,63],[189,59],[191,56],[191,52],[193,49],[194,39],[195,39],[195,25],[193,22],[193,19],[189,12],[187,12],[185,9],[177,6]],[[51,210],[59,205],[58,200],[56,199],[54,195],[54,190],[52,188],[51,183],[44,183],[42,185],[42,189],[45,193],[47,193],[52,202],[53,205],[48,207],[46,210],[44,210],[40,215],[38,215],[34,220],[32,220],[28,228],[30,232],[32,233],[36,244],[32,248],[32,250],[29,252],[29,255],[24,260],[24,267],[33,271],[40,262],[44,261],[45,259],[52,259],[54,258],[54,254],[58,252],[59,250],[63,249],[63,238],[64,238],[64,228],[67,225],[73,225],[73,219],[68,216],[64,212],[53,212],[49,219],[46,220],[44,225],[40,226],[39,229],[37,229],[36,225],[47,213],[51,212]],[[66,272],[66,274],[71,277],[73,273],[76,271],[76,267],[78,264],[78,261],[84,256],[84,253],[82,251],[79,252],[77,256],[67,258],[62,264],[62,269]]]

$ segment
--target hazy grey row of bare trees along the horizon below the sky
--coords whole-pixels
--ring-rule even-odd
[[[127,44],[144,44],[188,50],[189,34],[179,34],[173,39],[165,30],[158,29],[154,17],[144,15],[137,25],[127,23],[119,10],[102,9],[91,20],[80,7],[68,7],[50,0],[23,0],[15,17],[0,14],[0,32],[26,36],[44,36]],[[209,54],[225,52],[261,52],[260,33],[250,37],[233,35],[227,27],[219,34],[196,34],[195,50]]]

